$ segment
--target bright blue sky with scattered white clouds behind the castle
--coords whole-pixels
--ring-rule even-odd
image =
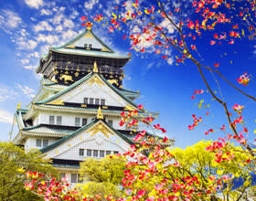
[[[80,16],[93,16],[97,13],[110,15],[116,2],[13,0],[4,1],[0,5],[0,140],[8,139],[17,103],[21,102],[22,108],[25,108],[37,93],[40,76],[34,69],[37,68],[39,58],[47,53],[48,47],[61,45],[84,30],[80,26]],[[126,9],[132,9],[130,1],[127,1]],[[173,31],[166,22],[159,23],[170,32]],[[140,27],[133,26],[127,32],[131,34],[136,28]],[[112,49],[122,53],[129,51],[129,42],[122,39],[123,31],[112,34],[102,26],[94,27],[93,31]],[[219,70],[229,80],[255,95],[255,41],[238,40],[232,46],[213,47],[208,45],[209,41],[209,37],[202,37],[197,41],[200,60],[210,66],[219,62]],[[165,127],[168,137],[176,139],[176,146],[186,147],[201,139],[223,136],[218,128],[223,124],[227,125],[227,121],[219,104],[212,101],[207,92],[198,95],[195,100],[190,99],[194,90],[207,91],[196,67],[188,61],[176,66],[176,54],[172,50],[168,50],[166,54],[169,57],[163,59],[152,53],[148,44],[144,46],[148,47],[149,53],[132,51],[133,58],[124,68],[126,77],[123,87],[141,92],[136,102],[144,104],[148,111],[160,113],[155,123]],[[249,86],[241,87],[236,79],[244,72],[250,73],[252,80]],[[212,75],[207,76],[211,86],[220,94]],[[256,128],[255,103],[218,80],[224,99],[229,101],[229,108],[234,103],[245,106],[244,122],[252,140],[255,138],[253,131]],[[198,109],[200,100],[204,100],[201,110]],[[205,109],[208,104],[210,107]],[[208,116],[205,115],[207,111]],[[187,125],[192,124],[191,116],[194,113],[201,116],[203,122],[196,130],[188,131]],[[209,128],[217,132],[206,136],[204,132]]]

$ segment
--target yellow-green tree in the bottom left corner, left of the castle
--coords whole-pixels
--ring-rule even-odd
[[[0,142],[0,200],[36,201],[40,197],[25,189],[26,172],[54,173],[37,150],[27,153],[13,143]]]

